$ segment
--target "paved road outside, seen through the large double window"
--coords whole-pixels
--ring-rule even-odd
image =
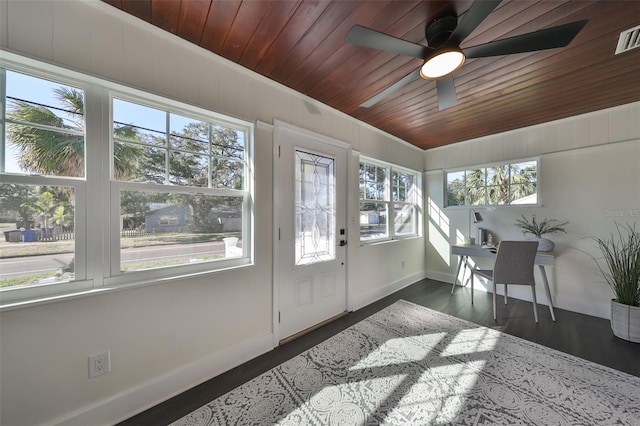
[[[218,254],[224,256],[224,243],[194,243],[194,244],[171,244],[165,246],[150,246],[125,248],[122,250],[122,263],[138,263],[158,261],[162,259],[180,258],[185,255],[211,256]],[[56,272],[60,268],[69,264],[73,258],[73,253],[49,254],[42,256],[15,257],[0,259],[0,276],[9,278],[23,275],[26,272]]]

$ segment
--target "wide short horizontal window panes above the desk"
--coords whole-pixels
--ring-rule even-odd
[[[538,161],[445,172],[447,206],[537,204]]]

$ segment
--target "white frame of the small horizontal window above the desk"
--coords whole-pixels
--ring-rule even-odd
[[[536,180],[535,180],[535,185],[536,185],[536,202],[535,203],[505,203],[505,204],[489,204],[487,203],[487,197],[485,195],[485,202],[481,203],[481,204],[467,204],[466,200],[465,200],[465,204],[449,204],[449,182],[448,182],[448,175],[450,173],[459,173],[459,172],[473,172],[476,170],[480,170],[480,169],[484,169],[485,170],[485,177],[484,177],[484,185],[482,186],[478,186],[477,188],[484,188],[485,190],[487,188],[492,187],[493,185],[488,185],[487,184],[487,176],[486,176],[486,169],[489,168],[497,168],[497,167],[502,167],[502,166],[507,166],[507,168],[509,170],[511,170],[512,165],[516,165],[516,164],[521,164],[521,163],[530,163],[530,162],[535,162],[536,163]],[[448,208],[448,209],[468,209],[468,208],[476,208],[476,207],[491,207],[491,208],[495,208],[495,207],[522,207],[522,206],[541,206],[541,182],[542,182],[542,177],[540,174],[540,164],[541,164],[541,159],[540,157],[528,157],[528,158],[523,158],[523,159],[515,159],[515,160],[509,160],[509,161],[501,161],[501,162],[497,162],[497,163],[484,163],[484,164],[477,164],[477,165],[471,165],[471,166],[466,166],[466,167],[458,167],[458,168],[453,168],[453,169],[443,169],[442,170],[442,183],[443,183],[443,205],[444,208]],[[509,183],[508,187],[509,189],[517,184],[513,184],[513,183]],[[465,187],[468,188],[468,187]],[[508,196],[511,194],[511,191],[509,191]]]

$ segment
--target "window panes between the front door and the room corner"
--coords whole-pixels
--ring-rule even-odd
[[[360,162],[360,241],[418,235],[420,176],[391,164]]]

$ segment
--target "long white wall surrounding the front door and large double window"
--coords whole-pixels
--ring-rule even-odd
[[[274,119],[423,170],[422,151],[96,0],[0,0],[0,47],[262,123],[255,266],[2,312],[2,425],[113,423],[272,348]],[[420,238],[351,244],[350,307],[423,277],[424,254]],[[87,357],[106,350],[112,371],[89,380]]]

